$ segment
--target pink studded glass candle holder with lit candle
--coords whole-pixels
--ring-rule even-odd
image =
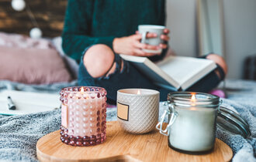
[[[61,89],[61,141],[93,146],[106,140],[106,89],[73,86]]]

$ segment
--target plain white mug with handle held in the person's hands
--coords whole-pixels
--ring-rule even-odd
[[[139,25],[138,31],[142,35],[141,42],[151,46],[159,46],[160,43],[164,42],[161,39],[161,35],[164,34],[164,29],[165,29],[165,26],[162,26],[162,25]],[[149,32],[156,33],[157,37],[147,39],[147,33]],[[143,49],[143,50],[148,53],[162,52],[162,49],[157,49],[157,50]]]

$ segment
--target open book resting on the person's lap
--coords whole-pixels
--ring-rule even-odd
[[[203,76],[216,69],[216,64],[209,59],[169,56],[155,64],[147,57],[120,56],[126,61],[132,62],[157,86],[175,91],[188,89]]]

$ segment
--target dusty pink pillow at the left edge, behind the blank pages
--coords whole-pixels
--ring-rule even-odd
[[[49,84],[69,82],[71,74],[55,49],[0,46],[0,79]]]

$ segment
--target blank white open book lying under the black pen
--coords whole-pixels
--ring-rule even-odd
[[[9,110],[8,96],[11,96],[16,110]],[[54,110],[61,106],[59,99],[57,94],[5,90],[0,93],[0,114],[20,115]]]

